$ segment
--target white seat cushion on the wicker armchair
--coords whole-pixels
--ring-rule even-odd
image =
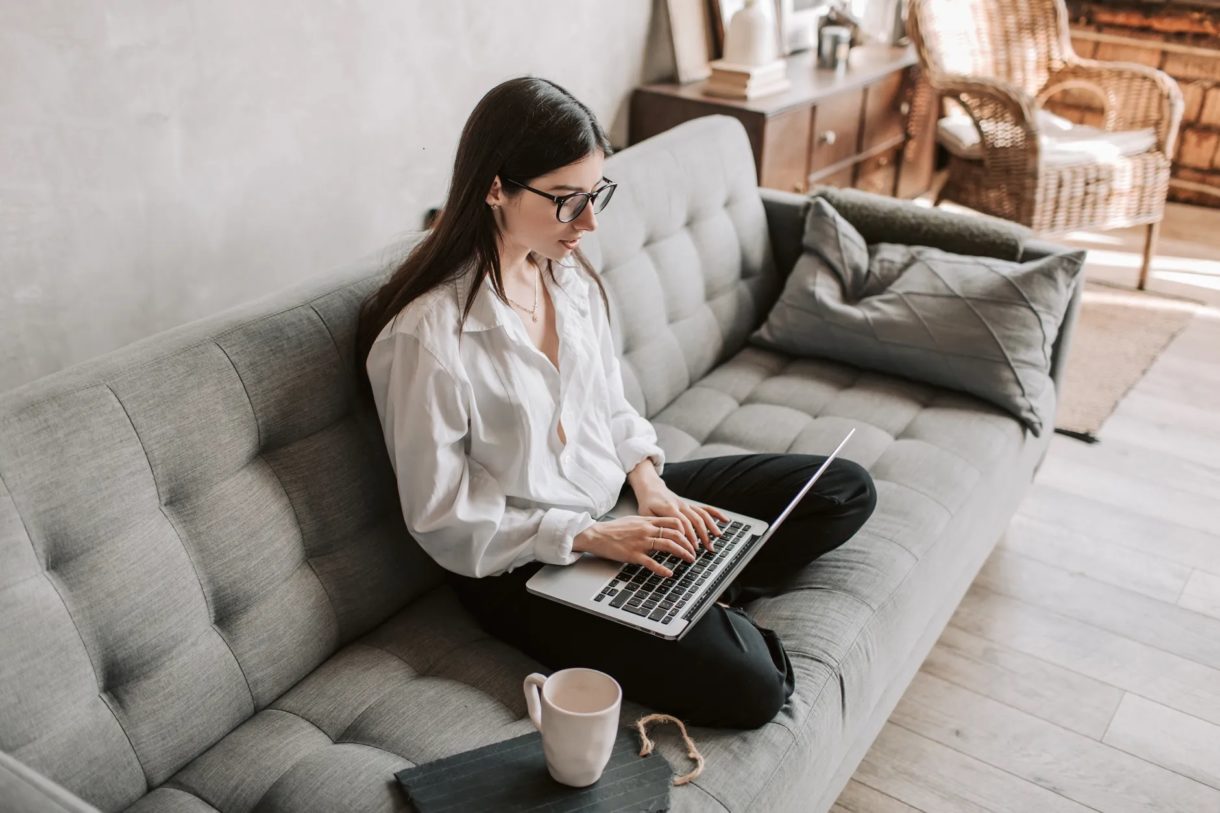
[[[1152,127],[1107,132],[1088,125],[1075,125],[1046,110],[1038,110],[1035,118],[1042,144],[1042,162],[1047,166],[1113,161],[1157,146],[1157,132]],[[946,116],[936,129],[939,142],[958,157],[982,160],[978,129],[965,112]]]

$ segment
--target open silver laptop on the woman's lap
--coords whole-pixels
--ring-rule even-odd
[[[770,522],[721,508],[730,521],[717,521],[723,536],[711,537],[715,548],[712,553],[703,547],[702,541],[693,563],[672,553],[654,552],[653,560],[673,573],[669,579],[639,564],[612,562],[586,553],[570,565],[543,566],[529,577],[526,588],[537,596],[662,638],[681,638],[711,609],[715,598],[732,584],[754,554],[762,549],[854,433],[854,428],[847,433],[826,458],[826,463],[817,468],[792,502]],[[623,491],[619,503],[597,518],[599,522],[637,514],[634,494],[630,488]],[[687,502],[706,505],[698,500]]]

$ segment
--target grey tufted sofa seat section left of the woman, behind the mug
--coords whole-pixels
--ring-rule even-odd
[[[448,585],[344,647],[129,811],[405,811],[394,773],[533,730],[548,670],[486,634]],[[625,724],[649,709],[625,701]]]

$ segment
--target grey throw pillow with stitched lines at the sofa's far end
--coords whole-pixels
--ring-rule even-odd
[[[814,199],[804,253],[766,322],[761,347],[821,356],[959,389],[1013,413],[1035,435],[1050,352],[1085,251],[1028,262],[925,245],[866,245]]]

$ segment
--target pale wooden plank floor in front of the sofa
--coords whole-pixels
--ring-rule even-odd
[[[1063,242],[1133,284],[1141,232]],[[1055,436],[836,813],[1220,813],[1220,211],[1170,206],[1149,289],[1208,308]]]

